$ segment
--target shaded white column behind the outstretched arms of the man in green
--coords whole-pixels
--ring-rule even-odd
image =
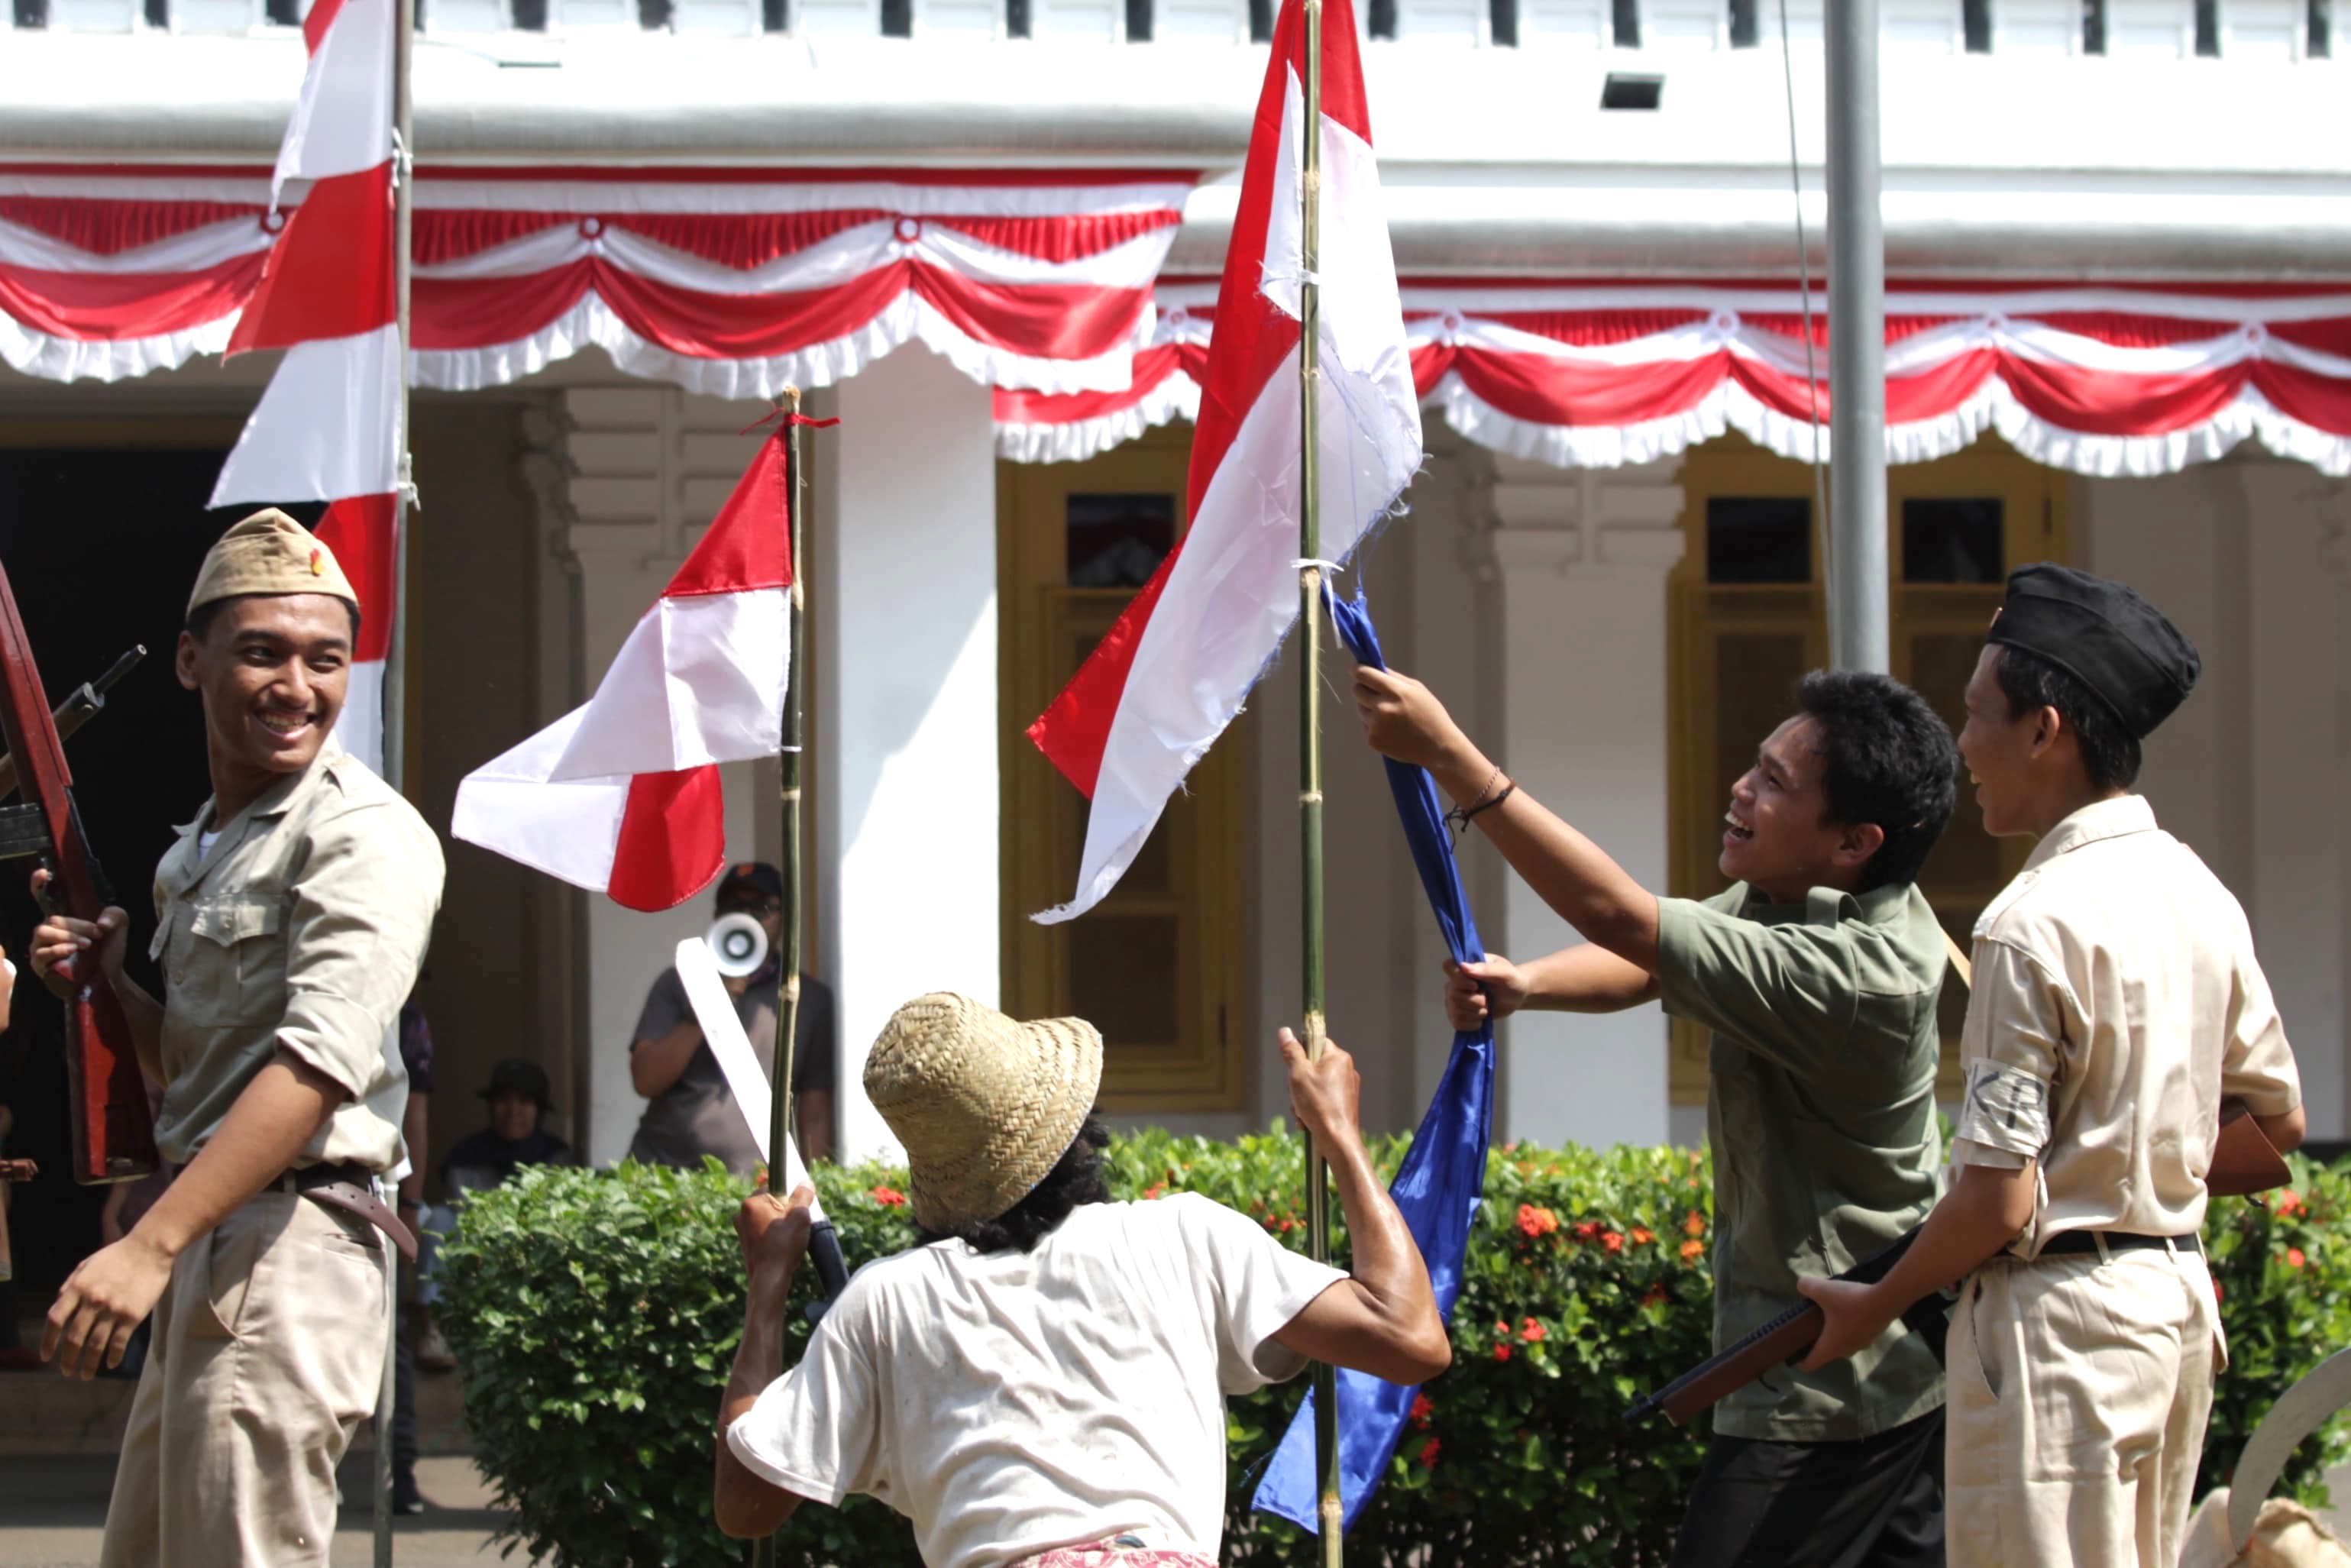
[[[1493,557],[1502,597],[1500,762],[1521,790],[1665,889],[1665,574],[1681,559],[1674,463],[1559,473],[1502,463]],[[1533,959],[1575,933],[1516,877],[1495,952]],[[1502,1025],[1498,1138],[1653,1145],[1669,1135],[1655,1004]]]

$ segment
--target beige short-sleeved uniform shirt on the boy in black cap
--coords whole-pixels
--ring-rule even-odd
[[[2057,823],[1975,924],[1961,1063],[1951,1161],[2041,1161],[2020,1258],[2201,1229],[2222,1098],[2302,1103],[2245,912],[2137,795]]]

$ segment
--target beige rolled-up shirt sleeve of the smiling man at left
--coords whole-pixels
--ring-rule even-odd
[[[442,853],[409,811],[360,804],[313,830],[287,914],[277,1048],[353,1098],[381,1074],[383,1037],[423,964]]]

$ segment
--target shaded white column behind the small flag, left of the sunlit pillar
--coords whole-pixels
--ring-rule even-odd
[[[569,527],[557,538],[576,576],[578,670],[585,701],[637,618],[661,597],[694,541],[710,527],[752,442],[724,442],[759,416],[757,404],[686,397],[675,388],[578,388],[562,397],[569,425],[562,484]],[[517,736],[520,738],[520,736]],[[762,802],[752,764],[724,771],[726,856],[748,858]],[[689,898],[675,910],[639,914],[602,893],[585,900],[585,1006],[578,1020],[585,1051],[585,1105],[574,1124],[585,1133],[590,1164],[628,1152],[644,1100],[628,1077],[628,1044],[644,992],[686,936],[710,924],[710,903]]]

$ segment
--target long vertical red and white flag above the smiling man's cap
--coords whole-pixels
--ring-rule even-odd
[[[308,190],[284,221],[228,353],[284,360],[221,465],[212,505],[331,501],[317,534],[346,562],[360,649],[343,705],[346,750],[383,766],[383,658],[400,491],[400,327],[393,247],[393,0],[317,0],[310,68],[277,150],[270,200]],[[353,559],[383,562],[362,581]]]

